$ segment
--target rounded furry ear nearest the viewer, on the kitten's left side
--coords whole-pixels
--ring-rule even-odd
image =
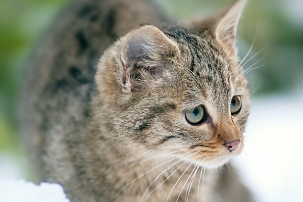
[[[122,82],[138,88],[148,79],[163,76],[166,63],[178,52],[177,44],[157,27],[145,25],[134,30],[121,49]]]

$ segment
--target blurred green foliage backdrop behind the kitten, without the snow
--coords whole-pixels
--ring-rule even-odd
[[[43,32],[53,23],[68,0],[0,1],[0,157],[15,160],[17,172],[31,178],[18,136],[17,103],[24,68]],[[225,8],[227,0],[158,0],[176,19],[207,16]],[[257,31],[258,30],[258,31]],[[242,59],[257,32],[247,57],[264,50],[245,67],[258,67],[247,74],[252,96],[288,93],[303,84],[303,1],[248,1],[238,27],[237,46]],[[267,55],[268,53],[268,55]],[[247,59],[245,61],[247,61]],[[1,161],[0,161],[1,167]]]

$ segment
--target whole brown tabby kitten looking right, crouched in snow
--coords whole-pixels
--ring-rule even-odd
[[[244,4],[175,23],[150,1],[72,2],[22,86],[39,180],[71,201],[251,201],[228,165],[249,114],[235,47]]]

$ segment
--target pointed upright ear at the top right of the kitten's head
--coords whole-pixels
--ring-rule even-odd
[[[235,36],[237,24],[245,6],[246,0],[238,0],[218,15],[190,22],[190,28],[197,32],[211,32],[230,53],[236,54]]]

